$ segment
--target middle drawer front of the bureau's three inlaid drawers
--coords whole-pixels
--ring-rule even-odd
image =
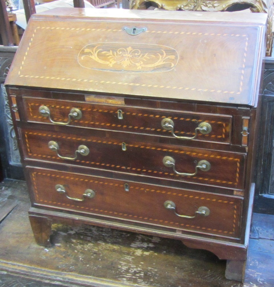
[[[28,159],[231,189],[243,188],[245,154],[136,142],[127,138],[123,142],[115,138],[22,130],[25,158]],[[172,160],[173,165],[170,164]],[[206,165],[208,168],[203,168]]]

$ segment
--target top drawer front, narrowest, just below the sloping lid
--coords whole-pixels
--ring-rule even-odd
[[[28,97],[24,97],[24,106],[27,121],[30,122],[52,123],[51,119],[55,125],[68,123],[68,125],[77,127],[186,138],[179,139],[181,141],[191,140],[189,138],[195,137],[195,129],[198,128],[194,140],[228,144],[231,138],[232,116],[227,115],[174,112]],[[44,110],[47,109],[47,113],[40,113],[39,108],[40,111],[41,109],[43,111],[41,107],[46,107]],[[71,117],[69,120],[68,115],[73,108],[79,109],[81,115],[76,118]],[[168,122],[169,128],[164,128],[164,123],[162,123],[162,120],[166,118],[171,120]],[[204,127],[205,132],[200,132],[199,127]]]

